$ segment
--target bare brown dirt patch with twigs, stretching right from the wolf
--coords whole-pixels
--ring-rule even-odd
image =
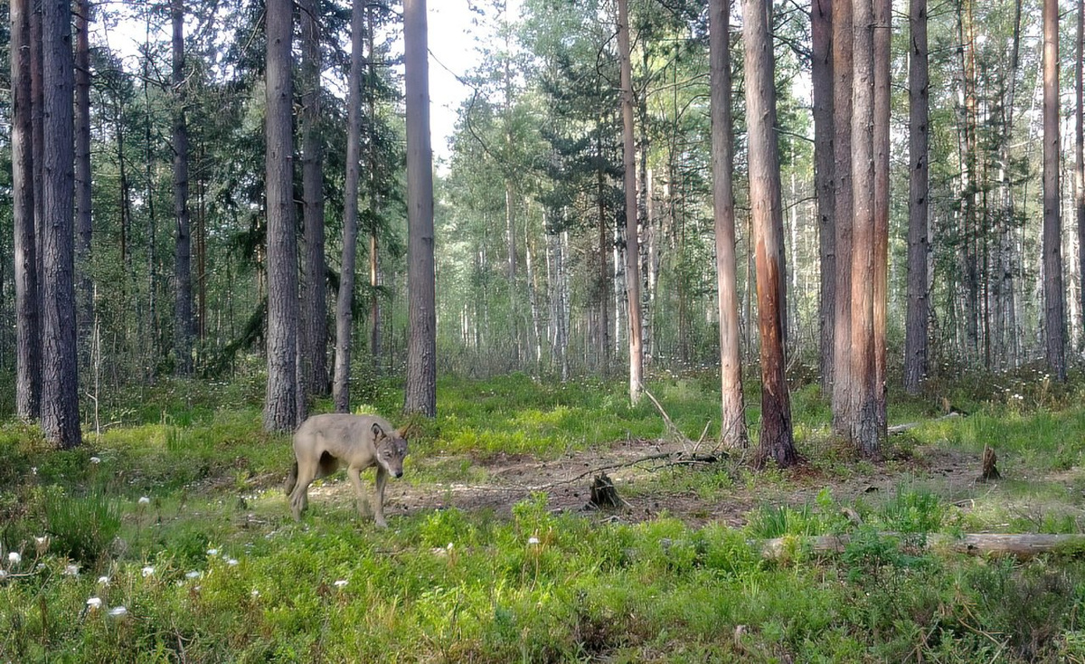
[[[593,519],[639,522],[661,513],[681,519],[691,525],[724,523],[741,526],[746,514],[764,505],[805,505],[814,502],[818,493],[829,487],[838,500],[850,501],[859,496],[888,495],[902,483],[936,485],[939,493],[960,499],[979,490],[976,477],[980,460],[943,448],[916,448],[904,458],[866,464],[866,472],[852,470],[845,474],[819,470],[806,463],[782,473],[782,478],[758,482],[755,473],[742,472],[742,462],[725,458],[716,463],[674,464],[681,452],[694,451],[689,443],[630,439],[610,447],[564,455],[553,460],[540,460],[528,455],[498,454],[486,459],[442,455],[416,459],[416,467],[447,467],[470,463],[475,482],[410,483],[390,481],[385,514],[396,516],[455,507],[467,511],[492,510],[508,515],[513,505],[534,491],[548,495],[554,511],[567,511]],[[698,449],[697,454],[712,450]],[[666,458],[671,455],[671,458]],[[843,463],[838,464],[843,467]],[[854,468],[856,464],[848,464]],[[589,506],[590,484],[600,470],[613,480],[627,508],[600,511]],[[705,495],[694,490],[698,482],[684,474],[727,473],[730,480],[724,488]],[[371,474],[371,473],[370,473]],[[782,481],[781,481],[782,480]],[[371,482],[367,482],[371,486]],[[693,488],[686,488],[693,487]],[[317,501],[354,500],[349,484],[337,476],[309,489]]]

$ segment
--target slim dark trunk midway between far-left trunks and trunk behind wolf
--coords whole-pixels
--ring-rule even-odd
[[[189,126],[184,80],[184,0],[171,0],[174,27],[174,371],[192,374],[192,224],[189,215]]]

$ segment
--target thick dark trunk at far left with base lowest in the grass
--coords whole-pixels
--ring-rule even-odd
[[[42,2],[42,301],[41,430],[61,448],[76,447],[79,431],[79,372],[75,319],[75,151],[72,5]]]

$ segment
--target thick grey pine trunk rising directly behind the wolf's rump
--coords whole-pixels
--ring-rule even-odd
[[[297,234],[294,224],[294,146],[291,0],[267,2],[267,281],[268,384],[264,427],[297,424]]]

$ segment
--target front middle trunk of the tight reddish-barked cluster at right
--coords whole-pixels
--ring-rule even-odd
[[[875,52],[873,0],[854,3],[852,97],[852,316],[848,438],[870,457],[880,449],[875,386]],[[839,378],[839,376],[838,376]]]

